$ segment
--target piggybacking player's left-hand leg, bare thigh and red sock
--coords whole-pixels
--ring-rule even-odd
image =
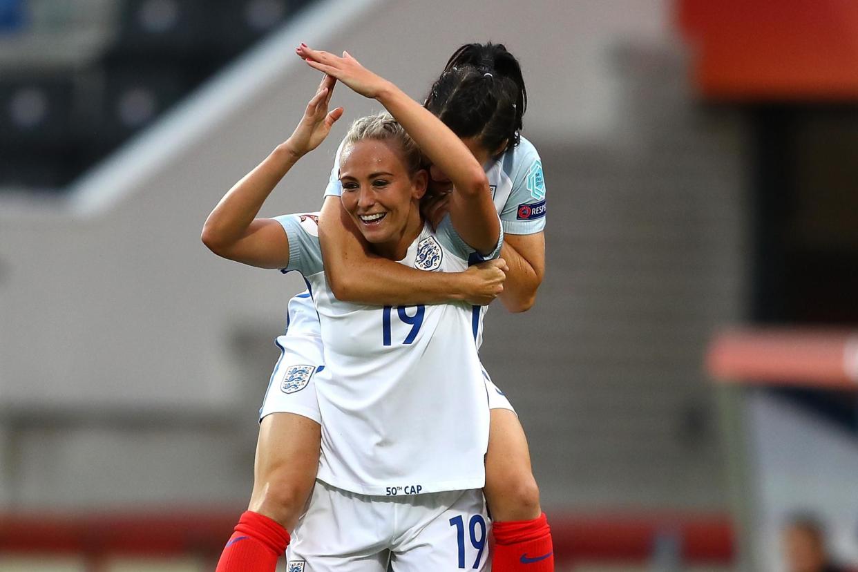
[[[272,413],[259,428],[248,510],[221,554],[216,572],[274,572],[310,497],[321,426],[295,413]]]

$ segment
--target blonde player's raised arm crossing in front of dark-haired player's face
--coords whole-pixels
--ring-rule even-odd
[[[297,48],[299,57],[315,69],[333,75],[365,97],[378,99],[432,163],[447,173],[455,191],[450,196],[450,220],[474,250],[488,253],[500,238],[500,223],[482,166],[464,143],[438,117],[426,111],[398,87],[373,74],[353,57]]]

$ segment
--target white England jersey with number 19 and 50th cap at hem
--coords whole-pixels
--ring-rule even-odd
[[[481,488],[489,417],[473,308],[342,302],[325,280],[317,216],[277,220],[289,240],[283,271],[304,274],[321,325],[318,479],[364,495]],[[472,252],[448,218],[437,232],[425,226],[400,262],[459,272]]]

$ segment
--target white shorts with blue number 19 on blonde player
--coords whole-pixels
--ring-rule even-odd
[[[322,481],[287,548],[287,572],[488,570],[482,491],[367,497]]]

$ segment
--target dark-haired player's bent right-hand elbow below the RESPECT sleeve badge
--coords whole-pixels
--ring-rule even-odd
[[[500,256],[509,266],[501,302],[511,312],[530,310],[545,276],[544,233],[505,234]]]

